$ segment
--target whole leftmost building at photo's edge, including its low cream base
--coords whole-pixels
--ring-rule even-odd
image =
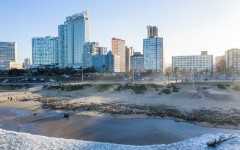
[[[21,69],[17,62],[17,43],[0,42],[0,70]]]

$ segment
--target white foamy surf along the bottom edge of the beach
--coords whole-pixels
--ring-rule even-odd
[[[207,142],[218,139],[220,136],[229,137],[230,134],[208,134],[198,138],[188,139],[174,144],[132,146],[99,142],[87,142],[81,140],[70,140],[61,138],[51,138],[28,133],[18,133],[0,129],[0,149],[2,150],[206,150],[211,149],[206,145]],[[237,138],[221,143],[214,149],[221,150],[240,150],[240,135]]]

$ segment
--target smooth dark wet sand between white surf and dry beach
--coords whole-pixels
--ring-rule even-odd
[[[202,127],[168,119],[114,119],[0,108],[0,128],[50,137],[129,145],[169,144],[210,133],[237,130]]]

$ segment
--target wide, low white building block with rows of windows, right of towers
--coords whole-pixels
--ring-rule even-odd
[[[178,67],[180,70],[213,71],[213,56],[202,51],[201,55],[173,56],[172,68]]]

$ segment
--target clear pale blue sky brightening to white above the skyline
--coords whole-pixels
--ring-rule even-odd
[[[111,38],[142,52],[147,25],[158,26],[171,56],[214,56],[240,48],[240,0],[0,0],[0,41],[18,43],[18,60],[31,58],[31,38],[57,36],[67,16],[89,11],[90,40],[111,49]]]

